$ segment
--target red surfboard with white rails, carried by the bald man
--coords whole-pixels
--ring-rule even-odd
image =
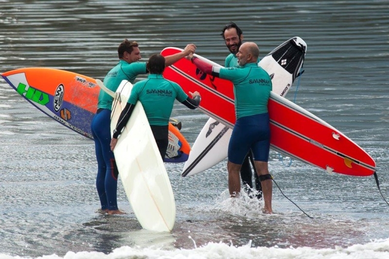
[[[181,50],[166,48],[162,55],[178,51]],[[233,128],[235,111],[231,81],[205,75],[185,58],[167,67],[163,76],[176,81],[186,93],[198,91],[202,97],[199,109]],[[268,109],[272,149],[329,173],[351,176],[370,176],[374,173],[375,162],[371,156],[316,115],[274,92],[270,94]]]

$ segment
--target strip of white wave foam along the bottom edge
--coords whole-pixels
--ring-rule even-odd
[[[20,259],[0,254],[0,259]],[[26,257],[27,258],[27,257]],[[31,257],[28,257],[31,258]],[[213,243],[194,249],[162,250],[155,248],[139,248],[122,246],[112,253],[101,252],[68,252],[64,257],[55,254],[37,257],[36,259],[119,259],[119,258],[149,258],[149,259],[387,259],[389,258],[389,239],[373,240],[367,244],[354,244],[349,247],[334,247],[314,249],[311,247],[251,247],[235,246],[232,243]]]

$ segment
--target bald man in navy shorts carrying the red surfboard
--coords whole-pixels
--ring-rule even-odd
[[[233,82],[236,122],[228,147],[228,184],[231,197],[238,197],[241,189],[240,169],[251,148],[255,168],[262,184],[265,207],[271,214],[273,183],[268,170],[270,125],[267,103],[272,82],[266,71],[258,66],[259,48],[253,42],[243,43],[238,53],[239,67],[217,67],[188,55],[200,70]]]

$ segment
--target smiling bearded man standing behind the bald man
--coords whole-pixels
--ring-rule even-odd
[[[230,50],[230,55],[226,57],[226,60],[224,62],[224,67],[238,67],[238,58],[236,57],[236,54],[239,51],[240,46],[242,45],[243,40],[243,32],[233,22],[230,22],[226,26],[223,27],[222,33],[220,34],[224,42],[226,43],[227,49]],[[259,58],[257,60],[257,63],[259,63]],[[262,187],[261,187],[261,181],[258,178],[257,171],[255,170],[254,161],[252,159],[252,153],[251,150],[248,151],[247,156],[245,157],[245,160],[242,163],[242,168],[240,169],[240,176],[242,178],[242,183],[245,189],[247,189],[248,194],[251,197],[250,194],[250,188],[253,188],[252,183],[252,171],[250,162],[252,164],[252,167],[254,169],[254,178],[255,178],[255,189],[257,191],[257,198],[262,197]],[[250,187],[250,188],[247,188]]]

